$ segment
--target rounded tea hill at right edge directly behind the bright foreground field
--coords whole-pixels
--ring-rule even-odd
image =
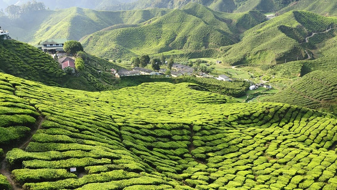
[[[337,74],[331,71],[313,71],[265,101],[294,104],[337,114]]]

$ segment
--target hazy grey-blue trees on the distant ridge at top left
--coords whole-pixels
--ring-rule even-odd
[[[31,12],[36,10],[44,10],[45,5],[43,2],[36,2],[33,0],[32,2],[28,1],[27,3],[24,3],[22,5],[9,5],[5,11],[8,13],[9,17],[16,17],[21,15],[24,12]],[[0,12],[0,16],[3,15]]]

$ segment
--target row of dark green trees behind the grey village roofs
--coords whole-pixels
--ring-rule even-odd
[[[141,57],[132,57],[131,58],[131,64],[133,66],[138,67],[147,67],[148,64],[151,64],[151,67],[153,70],[158,71],[160,69],[160,66],[162,66],[164,63],[167,63],[167,69],[171,70],[172,65],[174,63],[174,59],[171,56],[170,59],[166,62],[166,58],[163,54],[160,55],[159,58],[150,58],[149,55],[142,55]]]

